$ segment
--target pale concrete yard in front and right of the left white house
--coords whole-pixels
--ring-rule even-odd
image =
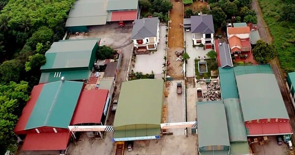
[[[160,42],[157,51],[151,52],[149,55],[137,55],[134,67],[131,67],[134,72],[143,72],[143,74],[150,74],[154,72],[156,79],[164,77],[163,63],[165,63],[164,56],[166,55],[166,26],[160,25]]]

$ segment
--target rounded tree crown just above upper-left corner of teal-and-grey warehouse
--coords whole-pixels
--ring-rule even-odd
[[[54,31],[52,29],[43,26],[32,34],[26,44],[35,50],[37,43],[45,44],[48,41],[52,41],[53,35]]]

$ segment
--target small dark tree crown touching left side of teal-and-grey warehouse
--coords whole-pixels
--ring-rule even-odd
[[[29,62],[25,64],[25,70],[38,70],[40,69],[41,65],[46,63],[46,58],[42,54],[35,54],[33,56],[29,56]]]

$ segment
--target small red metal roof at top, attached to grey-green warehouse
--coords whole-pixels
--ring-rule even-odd
[[[112,12],[111,21],[134,21],[137,19],[137,11],[115,11]]]

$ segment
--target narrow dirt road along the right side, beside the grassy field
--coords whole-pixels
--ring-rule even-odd
[[[258,27],[258,31],[260,34],[260,37],[262,40],[264,40],[265,42],[272,42],[272,36],[269,32],[269,29],[267,28],[266,22],[264,21],[263,18],[263,13],[262,10],[259,6],[258,0],[253,0],[252,4],[251,4],[251,8],[255,9],[255,12],[257,14],[257,19],[258,19],[258,23],[257,23],[257,27]],[[279,65],[279,61],[277,58],[275,58],[274,60],[272,60],[270,62],[272,71],[276,77],[276,80],[278,82],[281,94],[283,96],[284,102],[285,102],[285,106],[287,108],[289,117],[290,117],[290,122],[291,122],[291,126],[293,131],[295,131],[295,115],[294,115],[294,107],[292,104],[292,101],[289,97],[289,93],[287,91],[287,88],[285,86],[285,80],[283,80],[285,78],[285,73],[283,72],[283,70],[280,68]],[[295,138],[293,137],[293,141],[295,140]]]

